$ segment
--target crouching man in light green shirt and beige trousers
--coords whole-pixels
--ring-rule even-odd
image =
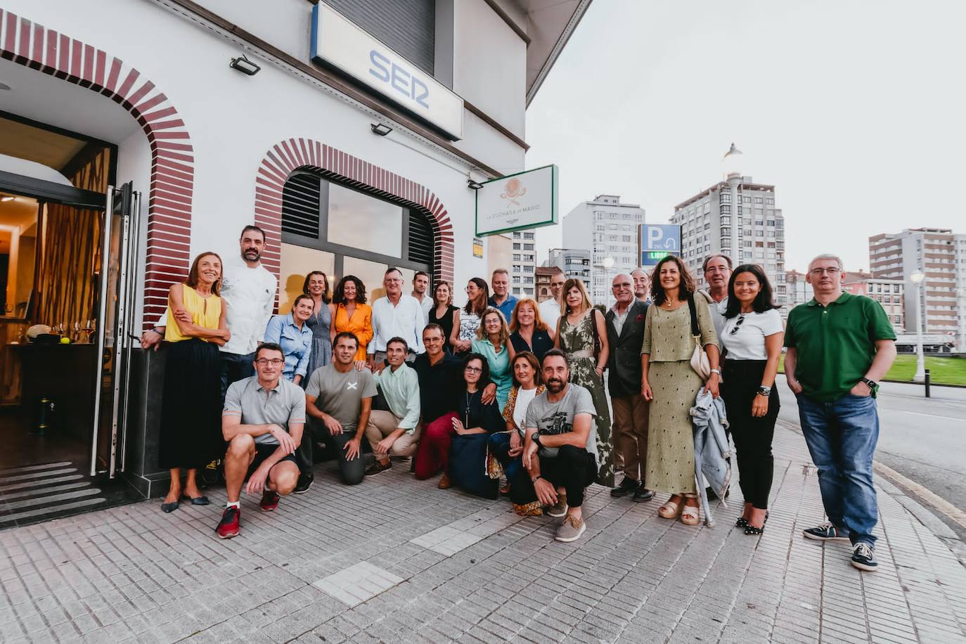
[[[419,378],[406,364],[409,351],[405,340],[391,338],[385,343],[389,366],[374,374],[390,411],[373,409],[369,414],[365,437],[376,461],[366,469],[366,476],[388,469],[392,465],[389,456],[412,457],[419,444]]]

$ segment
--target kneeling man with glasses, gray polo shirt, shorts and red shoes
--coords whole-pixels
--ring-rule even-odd
[[[255,376],[233,382],[225,393],[221,433],[228,441],[225,488],[228,504],[214,529],[222,539],[239,533],[241,486],[262,493],[263,511],[278,507],[278,497],[295,490],[298,462],[293,453],[305,425],[305,394],[282,378],[285,354],[274,343],[255,351]]]

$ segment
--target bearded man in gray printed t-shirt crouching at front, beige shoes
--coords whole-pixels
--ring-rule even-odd
[[[551,517],[563,517],[555,539],[571,542],[586,529],[582,519],[583,489],[597,476],[597,415],[590,392],[570,382],[563,351],[547,351],[543,359],[547,390],[526,407],[524,468],[510,490],[532,488]],[[569,505],[568,505],[569,503]]]

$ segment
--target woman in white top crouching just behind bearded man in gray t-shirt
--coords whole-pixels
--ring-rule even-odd
[[[506,475],[507,485],[502,491],[510,491],[509,481],[513,474],[522,466],[520,455],[524,451],[524,436],[526,435],[526,407],[530,401],[542,394],[545,387],[540,372],[540,361],[530,351],[520,351],[510,363],[513,374],[513,387],[503,407],[503,419],[506,421],[506,432],[490,435],[487,471],[492,478]],[[538,504],[528,503],[527,506],[517,507],[517,514],[526,516],[537,513]]]

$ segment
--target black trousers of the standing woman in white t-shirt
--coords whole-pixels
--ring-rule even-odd
[[[774,459],[772,439],[779,417],[779,392],[772,387],[768,411],[764,416],[752,415],[752,403],[758,396],[767,360],[725,360],[722,398],[734,447],[738,452],[738,478],[746,503],[759,510],[768,509],[772,490]]]

